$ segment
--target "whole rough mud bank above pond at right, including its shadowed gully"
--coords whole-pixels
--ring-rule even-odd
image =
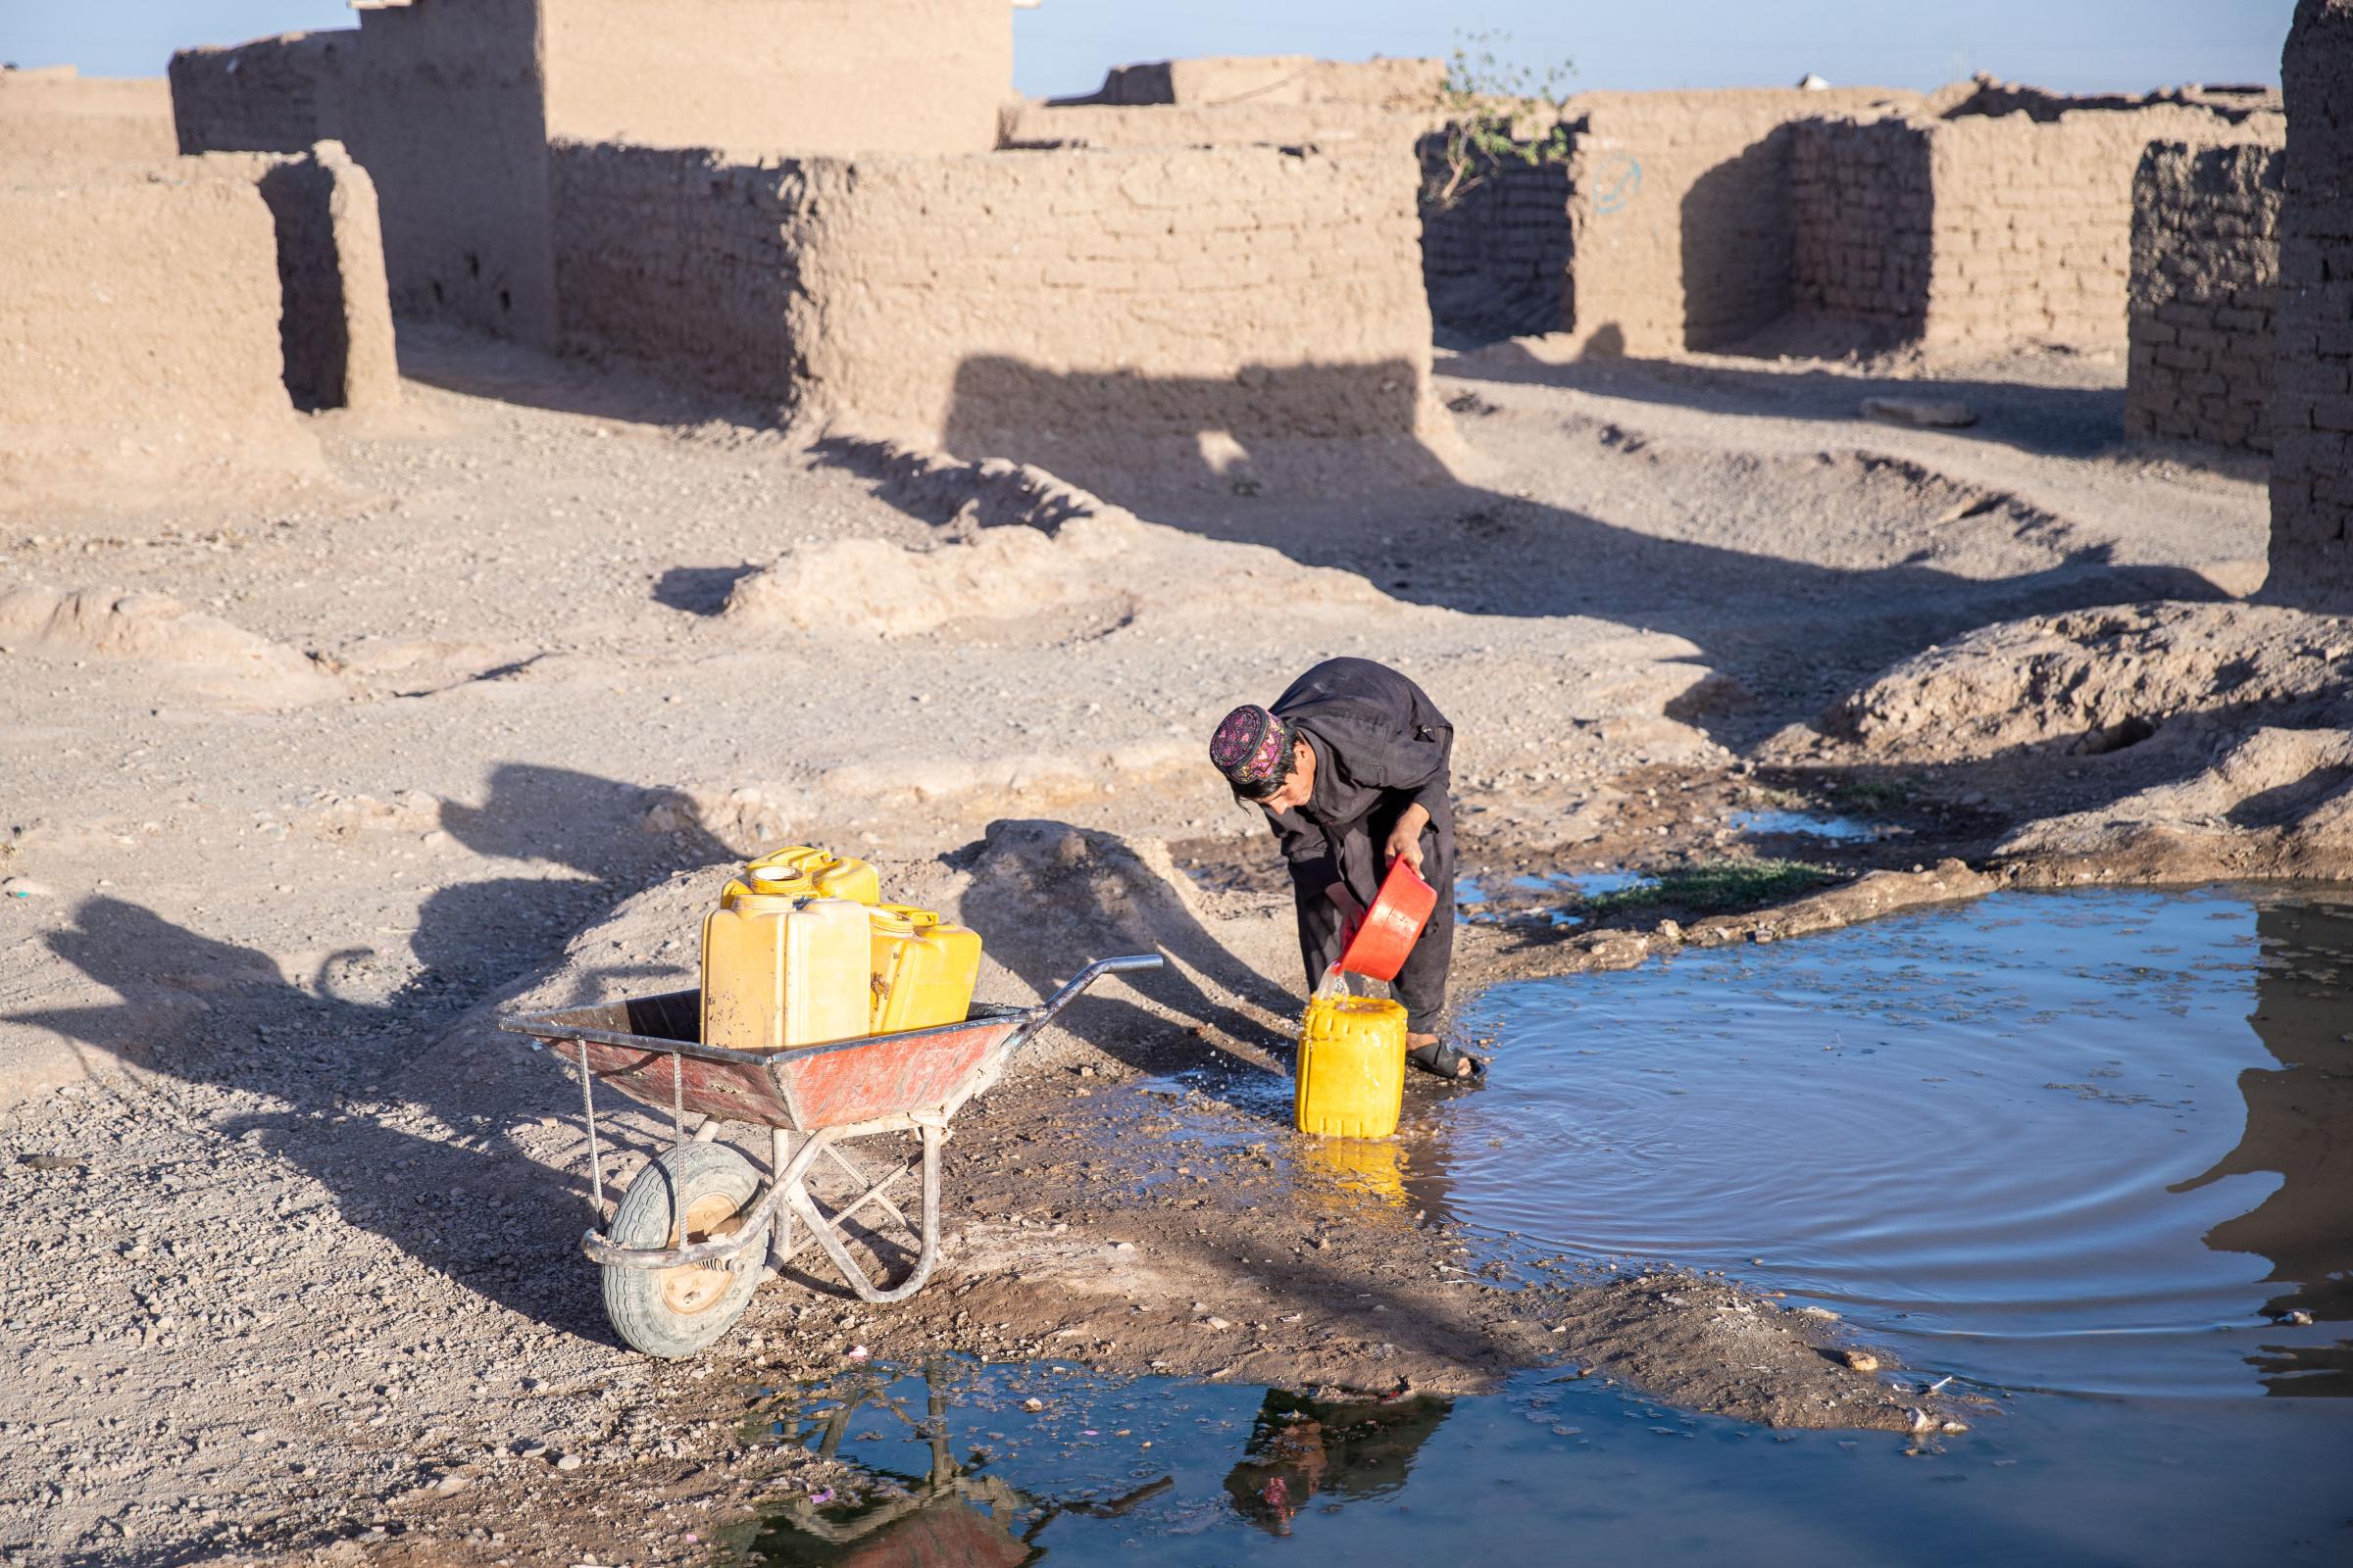
[[[2353,875],[2353,618],[2118,604],[1932,646],[1767,759],[1868,769],[2007,818],[2019,884]]]

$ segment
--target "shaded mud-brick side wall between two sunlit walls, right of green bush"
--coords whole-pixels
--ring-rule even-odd
[[[1807,120],[1791,134],[1791,306],[1918,339],[1937,195],[1915,120]]]

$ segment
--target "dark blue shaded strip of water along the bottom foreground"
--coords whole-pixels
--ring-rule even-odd
[[[713,1568],[2327,1563],[2353,1465],[2334,1399],[2028,1394],[1925,1443],[1765,1434],[1558,1371],[1447,1401],[955,1359],[753,1413],[868,1486],[722,1535]]]

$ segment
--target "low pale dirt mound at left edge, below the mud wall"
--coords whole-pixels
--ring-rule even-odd
[[[285,708],[341,696],[313,658],[162,592],[0,592],[0,651],[141,663],[207,696]]]

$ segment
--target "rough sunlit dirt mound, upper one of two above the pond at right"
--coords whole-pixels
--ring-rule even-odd
[[[1885,762],[2017,748],[2101,755],[2169,719],[2224,712],[2301,724],[2353,682],[2353,618],[2264,604],[2120,604],[2033,616],[1927,649],[1824,717]]]

